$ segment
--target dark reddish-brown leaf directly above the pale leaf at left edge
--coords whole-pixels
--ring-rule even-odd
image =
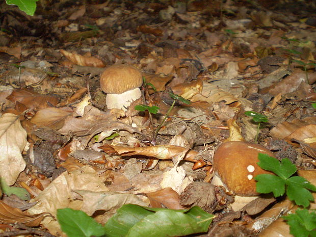
[[[59,99],[50,95],[38,94],[27,89],[18,89],[12,91],[7,97],[8,100],[15,103],[16,101],[24,104],[28,109],[45,109],[47,107],[56,106]]]

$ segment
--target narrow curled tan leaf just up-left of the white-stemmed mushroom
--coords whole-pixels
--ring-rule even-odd
[[[105,67],[106,65],[95,57],[87,57],[61,49],[60,52],[71,62],[80,66]]]

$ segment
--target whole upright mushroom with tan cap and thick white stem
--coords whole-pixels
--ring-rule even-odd
[[[131,102],[142,95],[139,87],[143,84],[140,70],[127,64],[112,65],[101,74],[100,86],[107,93],[108,109],[127,110]]]

